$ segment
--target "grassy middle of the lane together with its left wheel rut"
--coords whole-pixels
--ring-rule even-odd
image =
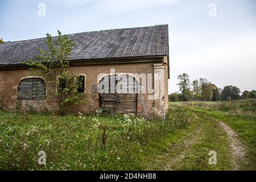
[[[232,159],[229,140],[217,122],[203,115],[193,117],[186,130],[163,154],[151,160],[150,170],[231,170]],[[176,133],[177,134],[177,133]],[[209,165],[209,152],[217,151],[217,165]]]

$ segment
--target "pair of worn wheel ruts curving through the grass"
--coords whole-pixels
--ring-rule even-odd
[[[246,163],[246,147],[240,142],[236,132],[226,125],[224,122],[219,121],[218,119],[204,116],[207,118],[208,121],[214,121],[218,123],[225,131],[228,140],[230,141],[230,151],[232,152],[232,169],[233,170],[240,170],[243,163]],[[196,115],[196,118],[199,117]],[[155,159],[155,163],[151,164],[151,166],[147,167],[147,170],[152,169],[154,165],[156,165],[157,169],[164,170],[164,171],[172,171],[175,170],[177,166],[183,159],[186,158],[188,155],[189,150],[191,147],[200,140],[200,134],[203,129],[203,125],[197,127],[196,130],[192,131],[191,134],[187,135],[183,140],[180,142],[171,144],[166,152],[162,155],[158,155]],[[221,128],[220,128],[221,130]]]

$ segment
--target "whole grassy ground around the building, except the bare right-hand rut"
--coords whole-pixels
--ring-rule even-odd
[[[234,166],[224,122],[245,146]],[[172,102],[166,119],[0,111],[1,170],[255,170],[255,100]],[[38,164],[45,151],[46,165]],[[217,164],[209,165],[209,151]]]

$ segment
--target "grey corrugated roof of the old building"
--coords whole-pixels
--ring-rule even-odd
[[[168,25],[82,32],[73,39],[72,60],[168,56]],[[0,44],[0,65],[33,59],[38,49],[47,50],[46,38]]]

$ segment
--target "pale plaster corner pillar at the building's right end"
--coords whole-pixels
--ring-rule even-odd
[[[154,65],[154,114],[160,118],[165,117],[165,66],[164,64]]]

